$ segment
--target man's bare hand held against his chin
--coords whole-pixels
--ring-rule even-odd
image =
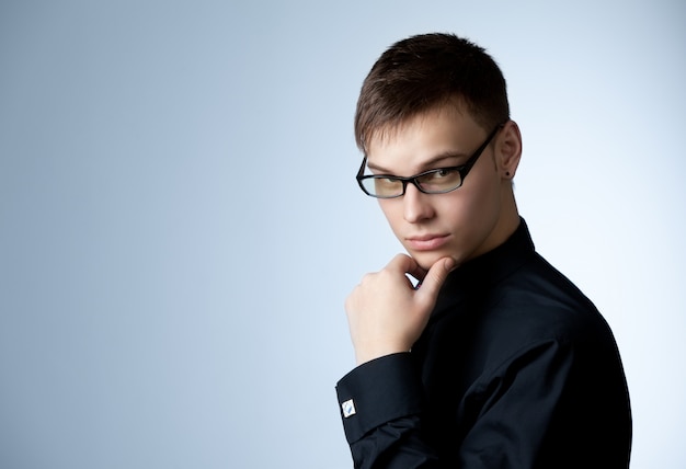
[[[454,266],[453,259],[443,258],[426,272],[414,259],[398,254],[382,271],[364,276],[345,301],[357,365],[410,351]],[[421,287],[415,289],[405,274],[421,281]]]

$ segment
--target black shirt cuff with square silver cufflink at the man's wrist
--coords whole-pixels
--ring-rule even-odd
[[[419,414],[421,382],[410,353],[359,365],[336,385],[347,443],[396,419]]]

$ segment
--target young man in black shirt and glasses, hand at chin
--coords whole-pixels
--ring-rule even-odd
[[[409,254],[345,305],[358,366],[336,391],[355,467],[627,468],[617,346],[519,217],[522,136],[493,59],[446,34],[392,45],[355,134],[359,186]]]

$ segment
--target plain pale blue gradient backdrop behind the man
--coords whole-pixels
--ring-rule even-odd
[[[538,250],[615,330],[636,469],[683,468],[683,1],[0,2],[0,467],[348,468],[343,301],[381,50],[485,46]],[[608,435],[611,438],[611,435]]]

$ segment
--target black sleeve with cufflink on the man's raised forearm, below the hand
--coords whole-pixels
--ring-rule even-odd
[[[422,438],[421,382],[410,353],[358,366],[339,381],[336,392],[355,468],[438,467]]]

